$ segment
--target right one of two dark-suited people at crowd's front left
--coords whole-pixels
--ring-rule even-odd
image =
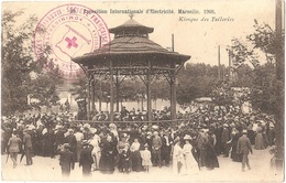
[[[91,157],[92,148],[90,147],[84,147],[80,159],[79,159],[79,165],[82,165],[82,175],[88,176],[91,172],[91,165],[94,164],[94,159]]]

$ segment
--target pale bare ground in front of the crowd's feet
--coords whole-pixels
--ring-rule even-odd
[[[241,171],[241,163],[232,162],[230,158],[219,157],[220,168],[212,171],[194,168],[191,174],[174,175],[172,166],[150,168],[150,172],[131,172],[129,174],[119,173],[101,174],[98,171],[92,172],[89,179],[84,179],[81,169],[76,163],[75,170],[72,171],[68,181],[116,181],[116,182],[283,182],[284,175],[270,169],[272,155],[268,149],[254,150],[249,155],[251,170]],[[13,169],[12,161],[9,159],[6,163],[7,155],[2,155],[2,180],[3,181],[67,181],[62,179],[58,158],[34,157],[33,165],[24,165],[25,159]],[[20,155],[19,158],[20,159]],[[19,161],[19,160],[18,160]]]

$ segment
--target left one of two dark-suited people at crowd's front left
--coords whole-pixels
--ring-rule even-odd
[[[59,151],[59,165],[62,168],[63,177],[68,177],[70,170],[75,168],[74,153],[69,151],[70,146],[68,143],[63,144],[63,149]]]

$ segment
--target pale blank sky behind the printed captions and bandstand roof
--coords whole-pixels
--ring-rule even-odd
[[[62,2],[38,2],[18,1],[3,2],[2,11],[16,11],[24,9],[24,14],[18,19],[18,23],[25,21],[31,14],[43,18],[50,10],[70,3]],[[108,13],[99,15],[107,26],[114,28],[128,21],[129,14],[110,13],[109,10],[142,9],[144,13],[134,14],[134,20],[146,26],[154,28],[150,40],[163,47],[172,46],[172,34],[175,37],[175,52],[190,55],[190,63],[218,64],[218,45],[221,50],[221,64],[228,64],[227,46],[233,37],[245,41],[245,35],[254,31],[254,19],[258,23],[267,23],[274,29],[275,0],[200,0],[200,1],[86,1],[72,3],[82,4],[92,10],[108,10]],[[173,14],[151,14],[147,9],[169,9]],[[178,9],[199,11],[199,14],[178,14]],[[204,10],[212,10],[216,14],[205,14]],[[179,17],[198,19],[199,21],[179,21]],[[202,18],[212,19],[227,18],[233,21],[200,21]],[[111,35],[112,37],[112,35]]]

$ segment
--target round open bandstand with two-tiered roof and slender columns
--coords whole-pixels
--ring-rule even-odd
[[[114,39],[100,49],[73,58],[85,71],[88,78],[87,119],[95,106],[95,80],[102,75],[110,84],[110,121],[113,121],[114,104],[119,111],[120,84],[127,76],[140,77],[146,86],[147,119],[151,120],[151,84],[156,76],[164,76],[169,84],[170,117],[176,119],[176,75],[190,58],[189,55],[168,51],[148,40],[153,28],[142,25],[131,17],[129,21],[109,29]],[[114,94],[117,94],[114,98]]]

